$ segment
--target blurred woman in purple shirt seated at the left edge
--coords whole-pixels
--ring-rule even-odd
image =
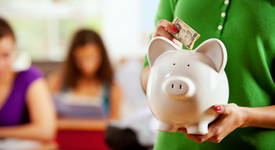
[[[34,66],[11,69],[14,49],[15,35],[0,18],[0,138],[49,142],[55,136],[55,112],[47,84]]]

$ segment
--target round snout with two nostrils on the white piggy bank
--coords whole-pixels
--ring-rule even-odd
[[[174,99],[182,99],[186,96],[192,96],[195,86],[188,78],[171,77],[164,82],[163,90],[168,96]]]

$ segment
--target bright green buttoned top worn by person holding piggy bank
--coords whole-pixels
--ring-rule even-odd
[[[175,17],[201,35],[194,49],[209,38],[218,38],[225,44],[229,103],[247,107],[275,104],[274,0],[161,0],[156,25],[160,19],[172,22]],[[147,65],[145,57],[144,67]],[[154,147],[155,150],[274,148],[275,130],[254,127],[238,128],[218,144],[198,144],[182,132],[159,132]]]

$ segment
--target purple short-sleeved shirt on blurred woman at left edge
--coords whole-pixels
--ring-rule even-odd
[[[0,110],[0,126],[30,122],[26,104],[27,90],[36,79],[41,77],[42,73],[34,66],[16,75],[10,94]]]

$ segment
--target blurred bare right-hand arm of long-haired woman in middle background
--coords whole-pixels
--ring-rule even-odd
[[[110,108],[111,108],[110,119],[119,119],[120,102],[121,102],[121,89],[118,84],[113,83],[110,91]]]

